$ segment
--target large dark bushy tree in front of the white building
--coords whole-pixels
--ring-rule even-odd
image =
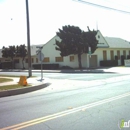
[[[82,68],[81,55],[88,53],[89,47],[91,47],[92,53],[97,48],[97,32],[91,31],[89,27],[88,32],[85,32],[76,26],[63,26],[63,29],[59,29],[56,34],[61,40],[56,40],[57,47],[55,49],[61,52],[61,56],[77,54],[80,69]]]

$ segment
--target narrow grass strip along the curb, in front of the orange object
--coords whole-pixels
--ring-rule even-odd
[[[23,87],[29,87],[29,86],[31,86],[31,85],[21,86],[19,84],[13,84],[13,85],[0,86],[0,91],[11,90],[11,89],[16,89],[16,88],[23,88]]]

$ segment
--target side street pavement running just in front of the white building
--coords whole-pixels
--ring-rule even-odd
[[[0,72],[2,75],[25,75],[28,76],[27,72]],[[39,73],[32,73],[33,76],[41,76]],[[43,77],[50,79],[70,79],[70,80],[98,80],[98,79],[107,79],[111,77],[118,77],[127,74],[117,74],[117,73],[43,73]]]

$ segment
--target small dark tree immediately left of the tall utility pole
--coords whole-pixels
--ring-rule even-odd
[[[24,59],[27,56],[27,49],[26,49],[25,45],[20,45],[20,46],[16,47],[16,56],[22,58],[23,69],[25,69]]]

